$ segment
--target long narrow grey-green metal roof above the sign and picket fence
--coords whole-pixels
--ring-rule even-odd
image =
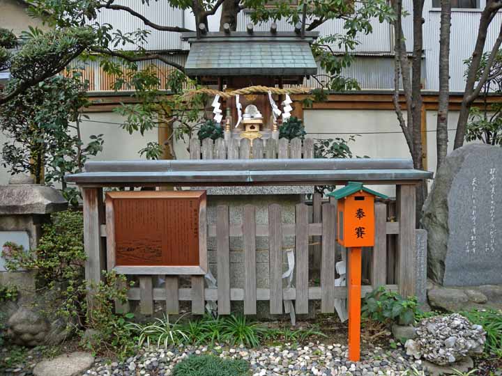
[[[432,173],[411,159],[206,159],[90,161],[66,176],[82,186],[415,184]]]

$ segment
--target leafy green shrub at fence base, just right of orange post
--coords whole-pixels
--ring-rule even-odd
[[[404,299],[397,292],[380,287],[366,295],[361,306],[363,317],[390,324],[397,322],[402,325],[413,324],[418,313],[416,297]]]

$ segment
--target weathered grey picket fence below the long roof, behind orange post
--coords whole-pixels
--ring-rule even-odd
[[[205,302],[218,301],[218,313],[231,313],[231,301],[243,301],[244,313],[257,313],[257,301],[270,301],[270,313],[284,313],[283,302],[294,301],[298,314],[308,313],[309,301],[320,300],[322,313],[335,311],[335,299],[346,298],[347,288],[335,287],[335,263],[344,257],[344,249],[336,242],[337,202],[321,205],[321,220],[315,217],[309,223],[309,207],[305,203],[296,205],[294,224],[283,224],[281,207],[268,207],[268,225],[257,224],[256,207],[243,207],[243,223],[230,224],[229,206],[217,207],[217,221],[208,226],[208,236],[216,237],[217,244],[217,288],[205,288],[204,276],[191,276],[191,287],[181,287],[178,276],[160,276],[165,287],[155,288],[153,279],[158,276],[137,276],[139,287],[130,288],[128,299],[139,301],[139,310],[146,315],[153,313],[154,301],[165,302],[167,313],[179,313],[179,301],[191,301],[192,313],[203,314]],[[400,223],[388,221],[386,203],[375,203],[375,245],[370,257],[370,285],[364,285],[362,295],[379,285],[397,290],[397,285],[386,284],[389,279],[387,253],[388,237],[400,233]],[[103,234],[103,232],[102,232]],[[102,235],[104,236],[104,235]],[[294,286],[284,287],[282,280],[282,241],[284,236],[295,237]],[[242,237],[244,252],[244,287],[236,288],[230,283],[230,237]],[[256,238],[268,237],[269,244],[269,287],[257,288]],[[321,260],[319,286],[310,285],[309,246],[312,239],[320,240]],[[404,256],[404,253],[403,253]],[[406,257],[401,258],[401,262]],[[406,265],[400,264],[400,267]],[[409,272],[412,272],[409,270]],[[128,304],[116,304],[117,311],[128,311]]]

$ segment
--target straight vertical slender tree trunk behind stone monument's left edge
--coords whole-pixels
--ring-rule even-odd
[[[448,103],[450,102],[450,26],[451,0],[441,0],[441,27],[439,31],[439,100],[436,125],[436,171],[448,153]]]

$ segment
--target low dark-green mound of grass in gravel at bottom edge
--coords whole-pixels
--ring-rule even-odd
[[[174,376],[245,376],[249,363],[242,359],[221,359],[211,355],[192,355],[174,366]]]

